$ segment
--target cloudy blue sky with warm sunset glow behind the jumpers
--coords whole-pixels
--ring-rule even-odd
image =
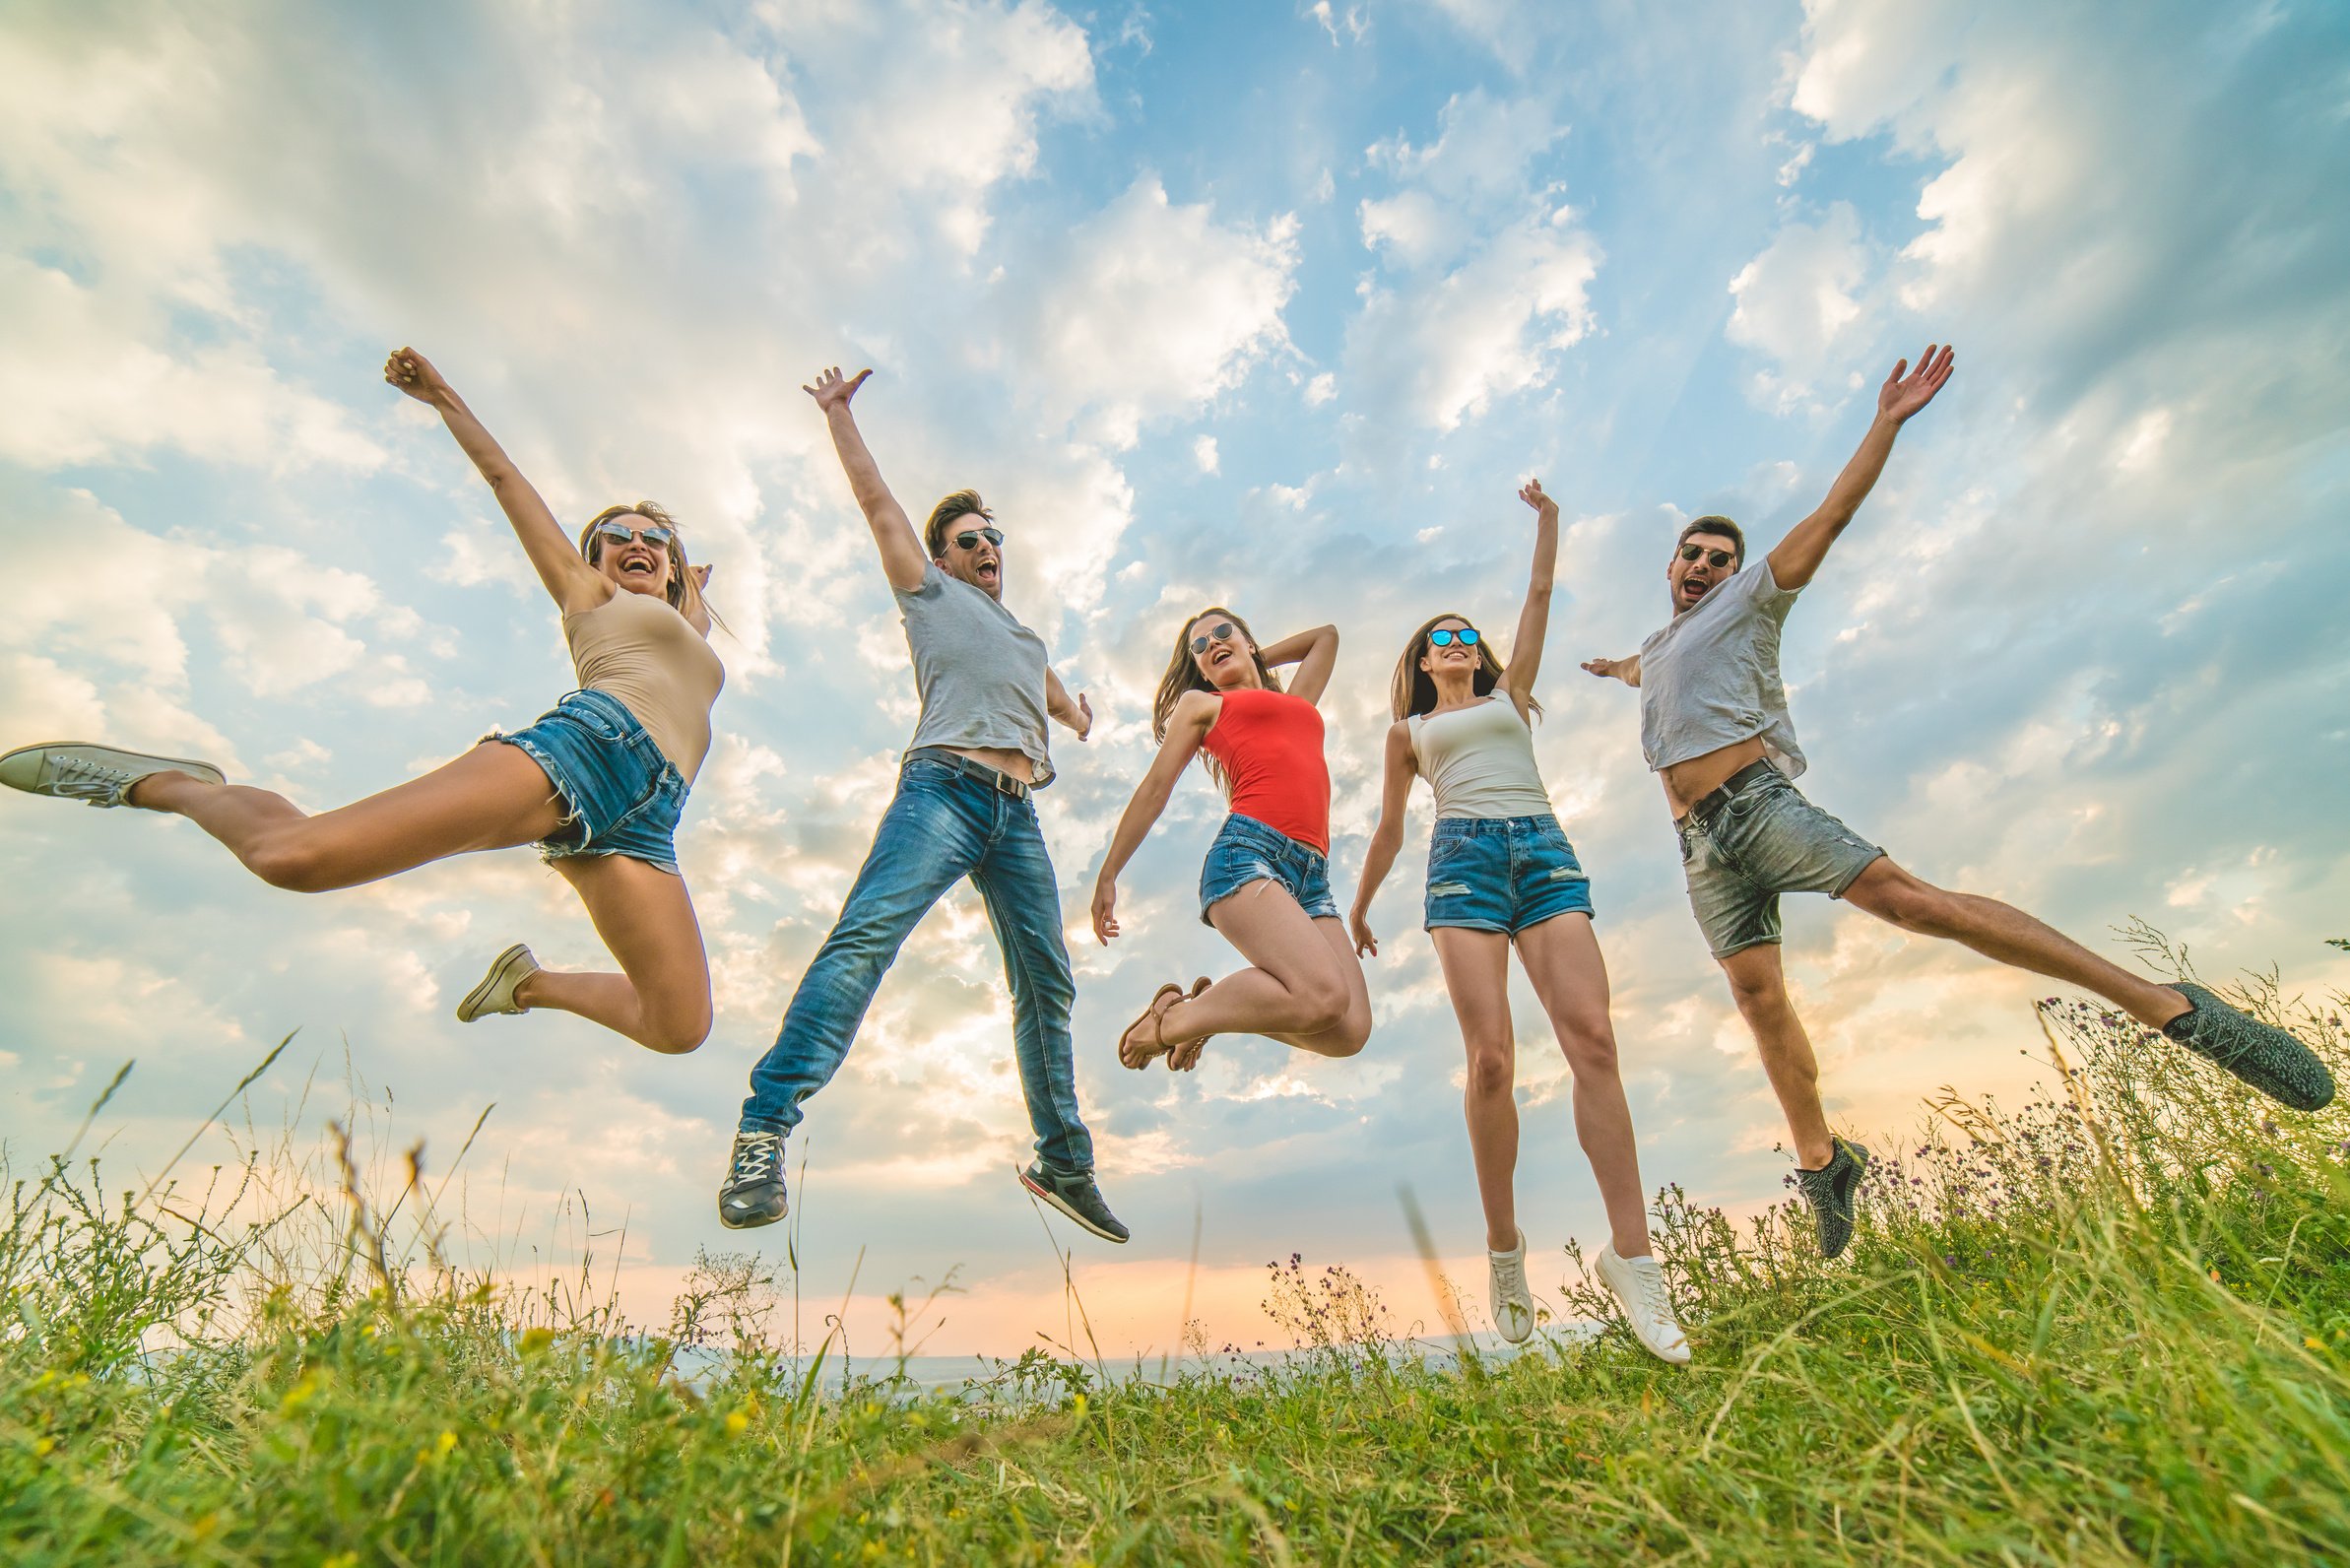
[[[1593,877],[1650,1187],[1746,1213],[1781,1121],[1690,919],[1622,656],[1678,522],[1772,543],[1875,386],[1958,374],[1786,628],[1805,790],[1913,872],[2117,959],[2143,917],[2207,976],[2350,985],[2350,14],[1511,0],[1067,5],[14,5],[0,14],[0,745],[209,757],[327,809],[569,689],[486,487],[381,383],[414,343],[559,517],[656,498],[733,628],[679,853],[717,1027],[658,1058],[555,1016],[458,1025],[505,943],[604,954],[526,851],[345,893],[242,875],[190,823],[0,799],[0,1140],[106,1107],[155,1175],[261,1056],[242,1126],[425,1140],[456,1241],[517,1279],[590,1248],[639,1316],[717,1225],[745,1074],[862,860],[914,682],[799,390],[874,367],[867,440],[916,517],[978,487],[1006,604],[1088,691],[1039,816],[1079,973],[1079,1091],[1126,1248],[1013,1185],[1029,1131],[975,893],[907,943],[792,1143],[797,1284],[952,1279],[933,1352],[1079,1333],[1274,1338],[1264,1265],[1434,1305],[1398,1187],[1483,1298],[1462,1044],[1419,924],[1429,799],[1372,912],[1354,1060],[1217,1039],[1130,1074],[1222,816],[1191,773],[1093,872],[1189,614],[1332,621],[1332,882],[1377,811],[1386,679],[1438,611],[1513,625],[1560,498],[1537,755]],[[1509,651],[1509,649],[1504,649]],[[1831,1114],[1899,1143],[1941,1086],[2044,1070],[2049,985],[1791,900]],[[1605,1239],[1565,1067],[1513,990],[1537,1300]],[[1892,1147],[1887,1143],[1885,1147]],[[190,1168],[233,1159],[207,1133]],[[120,1175],[122,1182],[113,1178]],[[1194,1258],[1196,1237],[1196,1269]],[[1058,1246],[1055,1246],[1058,1244]],[[1062,1253],[1069,1274],[1062,1272]],[[1558,1309],[1556,1295],[1549,1298]]]

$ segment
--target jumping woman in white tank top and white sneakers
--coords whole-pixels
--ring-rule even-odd
[[[1551,625],[1558,571],[1558,503],[1542,480],[1518,496],[1535,508],[1535,574],[1504,665],[1464,616],[1422,625],[1396,663],[1386,731],[1379,827],[1370,835],[1363,886],[1349,926],[1356,950],[1377,957],[1370,900],[1403,849],[1412,778],[1436,792],[1429,842],[1426,931],[1469,1048],[1469,1150],[1485,1204],[1492,1316],[1502,1338],[1535,1331],[1525,1286],[1525,1232],[1518,1229],[1516,1039],[1509,1025],[1509,950],[1535,983],[1551,1030],[1574,1072],[1574,1133],[1607,1204],[1612,1237],[1598,1253],[1600,1279],[1624,1305],[1640,1342],[1666,1361],[1687,1361],[1671,1293],[1650,1255],[1640,1154],[1631,1105],[1617,1072],[1607,1018],[1607,966],[1591,933],[1591,879],[1551,813],[1535,766],[1535,675]]]

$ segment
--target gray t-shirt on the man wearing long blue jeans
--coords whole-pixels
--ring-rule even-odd
[[[905,748],[1020,752],[1034,766],[1034,783],[1050,783],[1043,637],[985,590],[940,571],[938,562],[924,567],[921,588],[893,592],[905,618],[905,646],[914,654],[914,689],[921,691],[921,722]]]

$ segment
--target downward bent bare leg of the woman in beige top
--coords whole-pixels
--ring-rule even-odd
[[[682,1056],[710,1037],[710,959],[682,877],[627,856],[555,860],[620,973],[540,969],[515,987],[522,1006],[578,1013],[646,1051]]]

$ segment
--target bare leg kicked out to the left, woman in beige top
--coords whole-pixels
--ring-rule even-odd
[[[470,849],[533,844],[564,806],[517,745],[477,745],[423,778],[308,816],[284,795],[150,773],[129,804],[188,818],[270,886],[296,893],[360,886]]]

